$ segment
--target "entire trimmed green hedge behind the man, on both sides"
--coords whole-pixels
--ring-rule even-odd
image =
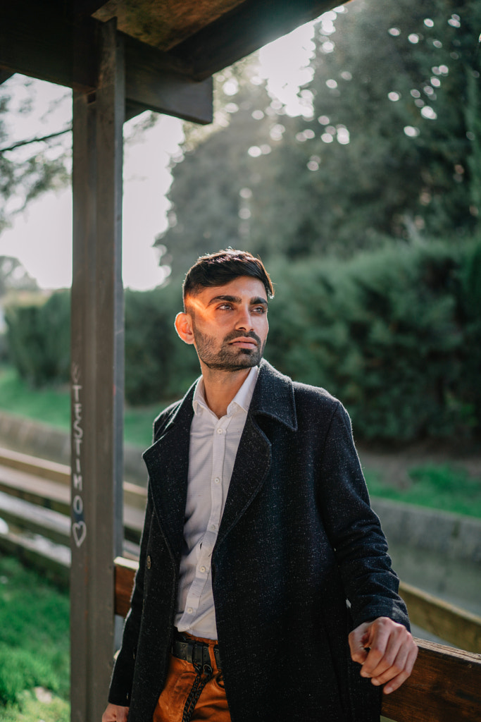
[[[325,386],[358,438],[472,437],[481,427],[481,240],[387,243],[350,261],[269,264],[266,357]],[[178,398],[198,375],[174,329],[181,281],[125,293],[125,396]],[[7,314],[12,360],[35,385],[68,378],[68,295]]]

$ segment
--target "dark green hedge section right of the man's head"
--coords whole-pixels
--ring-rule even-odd
[[[325,386],[363,438],[470,436],[481,423],[481,243],[387,245],[276,271],[267,357]]]

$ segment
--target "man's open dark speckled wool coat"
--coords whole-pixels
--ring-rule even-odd
[[[140,566],[110,702],[150,722],[167,674],[187,495],[193,388],[154,425]],[[350,661],[369,619],[408,626],[343,406],[262,361],[212,555],[233,722],[379,721]]]

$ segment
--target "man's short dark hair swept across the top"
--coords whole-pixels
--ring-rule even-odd
[[[182,285],[184,305],[187,296],[195,296],[203,288],[224,286],[239,276],[259,279],[268,298],[273,298],[273,284],[260,258],[255,258],[248,251],[227,248],[225,251],[200,256],[187,271]]]

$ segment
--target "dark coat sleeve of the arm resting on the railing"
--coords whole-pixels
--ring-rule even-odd
[[[350,602],[354,626],[390,617],[409,629],[387,541],[371,509],[348,413],[337,403],[321,458],[320,508]]]

